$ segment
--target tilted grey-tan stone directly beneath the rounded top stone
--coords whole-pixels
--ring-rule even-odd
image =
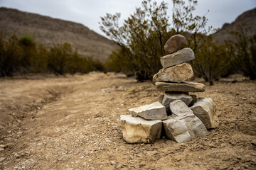
[[[181,64],[183,62],[189,62],[195,59],[195,55],[191,48],[183,48],[182,50],[178,50],[171,55],[166,55],[160,58],[161,65],[166,69],[167,67],[171,67],[177,64]]]

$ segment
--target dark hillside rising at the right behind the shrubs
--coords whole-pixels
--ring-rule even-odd
[[[253,35],[256,33],[256,8],[250,11],[245,11],[233,23],[225,23],[223,27],[213,35],[213,40],[224,42],[224,40],[232,40],[232,35],[229,31],[236,30],[238,25],[245,23],[250,30],[247,31],[247,35]]]

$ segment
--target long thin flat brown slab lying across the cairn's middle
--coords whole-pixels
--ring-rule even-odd
[[[182,83],[169,83],[156,81],[156,89],[158,91],[181,91],[181,92],[203,92],[206,86],[201,83],[183,81]]]

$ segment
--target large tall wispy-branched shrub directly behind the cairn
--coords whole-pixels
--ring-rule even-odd
[[[190,32],[189,45],[196,50],[198,42],[203,40],[197,36],[207,19],[193,17],[197,1],[189,0],[188,3],[186,6],[185,1],[173,0],[173,28],[164,1],[159,5],[151,0],[142,1],[142,8],[136,8],[122,26],[119,25],[120,13],[107,13],[102,17],[100,29],[120,47],[110,55],[107,69],[133,74],[138,80],[151,79],[161,69],[160,57],[166,55],[164,43],[176,33]]]

